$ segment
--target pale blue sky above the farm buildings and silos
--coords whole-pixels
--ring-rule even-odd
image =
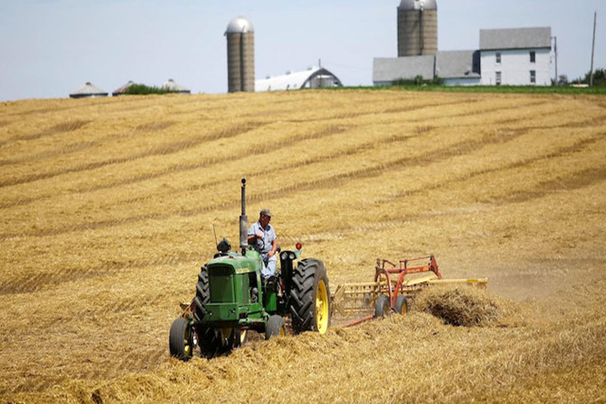
[[[439,50],[476,49],[481,28],[551,27],[558,73],[606,67],[605,0],[437,0]],[[397,56],[399,0],[0,0],[0,101],[64,98],[90,81],[111,93],[168,78],[227,91],[230,19],[255,27],[255,76],[317,65],[371,85],[374,57]],[[553,64],[552,64],[553,70]],[[553,73],[552,73],[553,74]]]

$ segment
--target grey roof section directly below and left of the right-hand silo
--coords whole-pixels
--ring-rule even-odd
[[[421,75],[424,79],[433,79],[435,56],[402,56],[401,58],[373,59],[373,82],[414,79]]]

